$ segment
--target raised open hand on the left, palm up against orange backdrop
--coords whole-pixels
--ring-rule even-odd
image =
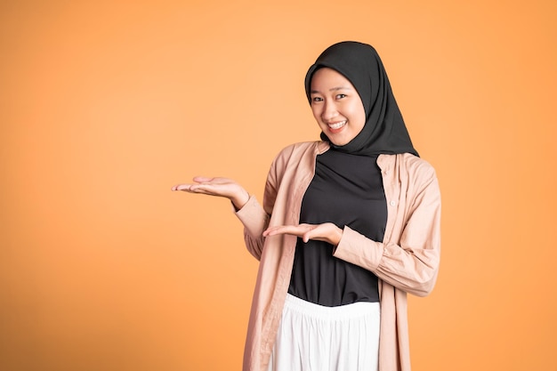
[[[193,183],[176,184],[172,190],[228,198],[237,210],[246,205],[249,199],[247,190],[229,178],[196,176],[193,181]]]

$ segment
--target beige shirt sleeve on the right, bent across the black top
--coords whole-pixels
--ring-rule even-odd
[[[371,270],[410,294],[430,294],[440,263],[440,190],[432,167],[427,170],[421,184],[413,186],[416,196],[407,200],[411,204],[400,211],[406,220],[396,237],[376,242],[344,227],[335,257]]]

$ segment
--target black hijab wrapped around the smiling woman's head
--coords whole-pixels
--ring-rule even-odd
[[[408,152],[418,156],[392,95],[383,62],[371,45],[345,41],[322,52],[305,77],[305,93],[310,104],[311,78],[323,67],[335,69],[354,85],[366,111],[366,124],[350,142],[336,146],[325,133],[321,133],[323,141],[328,141],[336,150],[354,155]]]

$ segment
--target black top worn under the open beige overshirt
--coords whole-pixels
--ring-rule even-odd
[[[387,223],[377,156],[357,156],[329,149],[317,157],[313,180],[302,201],[300,222],[333,222],[383,241]],[[298,238],[288,292],[308,302],[338,306],[379,302],[377,277],[369,270],[333,256],[327,242]]]

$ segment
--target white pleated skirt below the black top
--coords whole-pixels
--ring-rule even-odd
[[[291,294],[268,371],[376,371],[379,302],[325,307]]]

